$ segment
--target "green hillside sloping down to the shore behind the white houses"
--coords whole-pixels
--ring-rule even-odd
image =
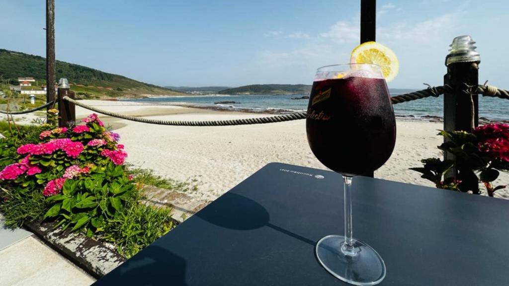
[[[65,77],[72,83],[72,90],[81,95],[108,97],[137,97],[141,95],[182,95],[171,89],[137,81],[122,75],[56,61],[56,80]],[[46,59],[42,56],[0,49],[0,77],[34,77],[39,83],[46,78]]]

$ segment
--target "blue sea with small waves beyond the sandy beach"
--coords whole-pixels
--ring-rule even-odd
[[[399,95],[397,93],[391,96]],[[292,99],[308,95],[207,95],[152,97],[129,99],[146,104],[184,105],[218,110],[236,110],[265,113],[291,113],[305,111],[307,99]],[[229,103],[225,103],[225,102]],[[429,120],[443,117],[443,96],[430,97],[394,104],[394,113],[400,118]],[[479,118],[489,121],[509,120],[509,100],[479,96]]]

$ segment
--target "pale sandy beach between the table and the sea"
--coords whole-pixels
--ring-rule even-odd
[[[105,110],[171,120],[226,120],[265,117],[266,114],[215,111],[182,106],[139,105],[127,101],[83,101]],[[76,117],[89,115],[76,107]],[[21,116],[15,117],[21,118]],[[270,162],[283,162],[326,169],[315,158],[306,139],[305,121],[225,127],[181,127],[143,124],[108,116],[100,118],[121,135],[120,142],[129,154],[128,162],[153,169],[157,174],[176,180],[198,179],[197,191],[188,195],[212,201]],[[24,116],[28,122],[32,116]],[[417,185],[433,186],[410,167],[419,160],[441,157],[436,148],[442,123],[397,121],[397,141],[387,163],[375,171],[375,177]],[[501,174],[498,183],[509,183]],[[338,182],[340,184],[340,182]],[[509,191],[497,191],[497,197],[509,198]]]

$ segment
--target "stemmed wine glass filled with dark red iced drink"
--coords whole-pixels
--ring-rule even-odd
[[[345,64],[317,70],[307,108],[309,147],[345,186],[345,236],[329,235],[316,246],[322,266],[354,285],[375,285],[385,264],[369,245],[352,237],[352,178],[369,174],[389,159],[396,123],[381,67]]]

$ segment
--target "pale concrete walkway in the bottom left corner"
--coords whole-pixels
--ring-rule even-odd
[[[0,215],[0,286],[90,285],[95,279],[81,271],[25,230],[4,227]]]

